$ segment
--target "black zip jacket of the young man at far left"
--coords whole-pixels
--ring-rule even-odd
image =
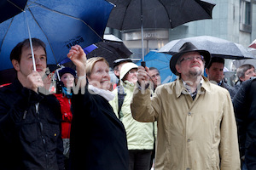
[[[64,169],[58,100],[18,80],[0,88],[0,96],[0,169]]]

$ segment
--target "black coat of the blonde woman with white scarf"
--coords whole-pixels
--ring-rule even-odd
[[[127,170],[125,127],[108,100],[98,94],[74,94],[70,156],[73,170]]]

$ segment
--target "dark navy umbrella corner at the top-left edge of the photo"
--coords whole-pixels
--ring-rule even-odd
[[[20,14],[26,6],[27,0],[1,0],[0,23]]]

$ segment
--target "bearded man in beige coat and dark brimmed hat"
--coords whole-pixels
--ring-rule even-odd
[[[208,51],[184,43],[170,61],[179,77],[158,87],[152,99],[148,67],[138,68],[131,112],[137,121],[158,122],[156,170],[240,169],[230,94],[202,76],[210,59]]]

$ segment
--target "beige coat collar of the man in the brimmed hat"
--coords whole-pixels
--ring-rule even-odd
[[[210,92],[211,91],[211,87],[210,87],[210,82],[208,81],[207,77],[201,76],[201,92],[207,91]],[[175,88],[176,88],[176,97],[179,98],[181,96],[181,94],[188,94],[187,89],[184,87],[183,85],[183,80],[178,77],[178,79],[176,80],[176,84],[175,84]]]

